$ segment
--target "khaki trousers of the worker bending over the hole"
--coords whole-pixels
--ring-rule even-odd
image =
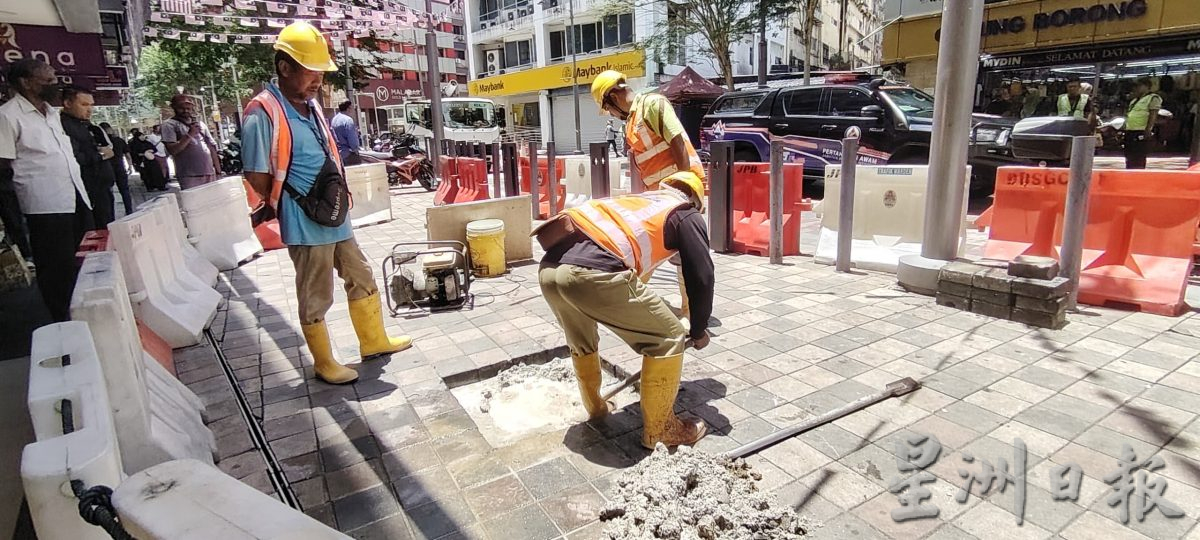
[[[541,295],[566,334],[572,355],[599,352],[596,323],[643,356],[683,354],[686,331],[659,295],[632,271],[602,272],[571,264],[544,265]]]

